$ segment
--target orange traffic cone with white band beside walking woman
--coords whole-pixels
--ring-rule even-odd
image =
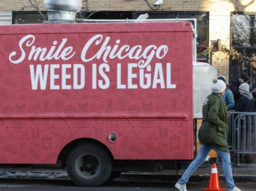
[[[216,164],[212,164],[212,172],[209,181],[209,188],[204,188],[204,191],[224,191],[224,188],[221,188],[220,180],[218,177],[218,171]]]

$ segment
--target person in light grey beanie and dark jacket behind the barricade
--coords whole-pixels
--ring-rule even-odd
[[[253,99],[253,94],[249,91],[250,86],[247,83],[242,83],[239,86],[239,93],[241,97],[236,103],[237,112],[253,112],[255,108],[255,103]]]

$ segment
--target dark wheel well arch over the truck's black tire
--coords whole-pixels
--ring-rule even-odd
[[[66,166],[67,157],[68,157],[69,153],[72,151],[72,149],[75,148],[78,145],[83,145],[83,144],[87,144],[87,143],[93,143],[93,144],[102,146],[103,148],[105,148],[109,152],[110,156],[113,159],[113,155],[112,155],[111,151],[103,143],[101,143],[101,142],[99,142],[98,140],[95,140],[95,139],[80,138],[80,139],[76,139],[76,140],[71,141],[70,143],[65,145],[64,148],[62,148],[60,154],[58,155],[57,163],[59,163],[61,161],[61,164],[63,166]]]

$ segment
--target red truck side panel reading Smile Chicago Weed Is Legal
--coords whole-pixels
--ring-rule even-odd
[[[1,26],[0,163],[53,164],[79,138],[118,160],[192,159],[189,24]]]

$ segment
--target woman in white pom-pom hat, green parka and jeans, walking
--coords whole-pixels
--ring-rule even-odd
[[[226,104],[221,98],[225,93],[226,84],[222,80],[213,80],[211,88],[212,94],[206,98],[203,104],[203,123],[198,132],[200,141],[198,156],[175,184],[179,191],[187,191],[186,183],[201,163],[206,160],[211,149],[214,149],[218,156],[221,157],[227,191],[241,191],[234,184],[229,148],[226,140],[228,115]]]

